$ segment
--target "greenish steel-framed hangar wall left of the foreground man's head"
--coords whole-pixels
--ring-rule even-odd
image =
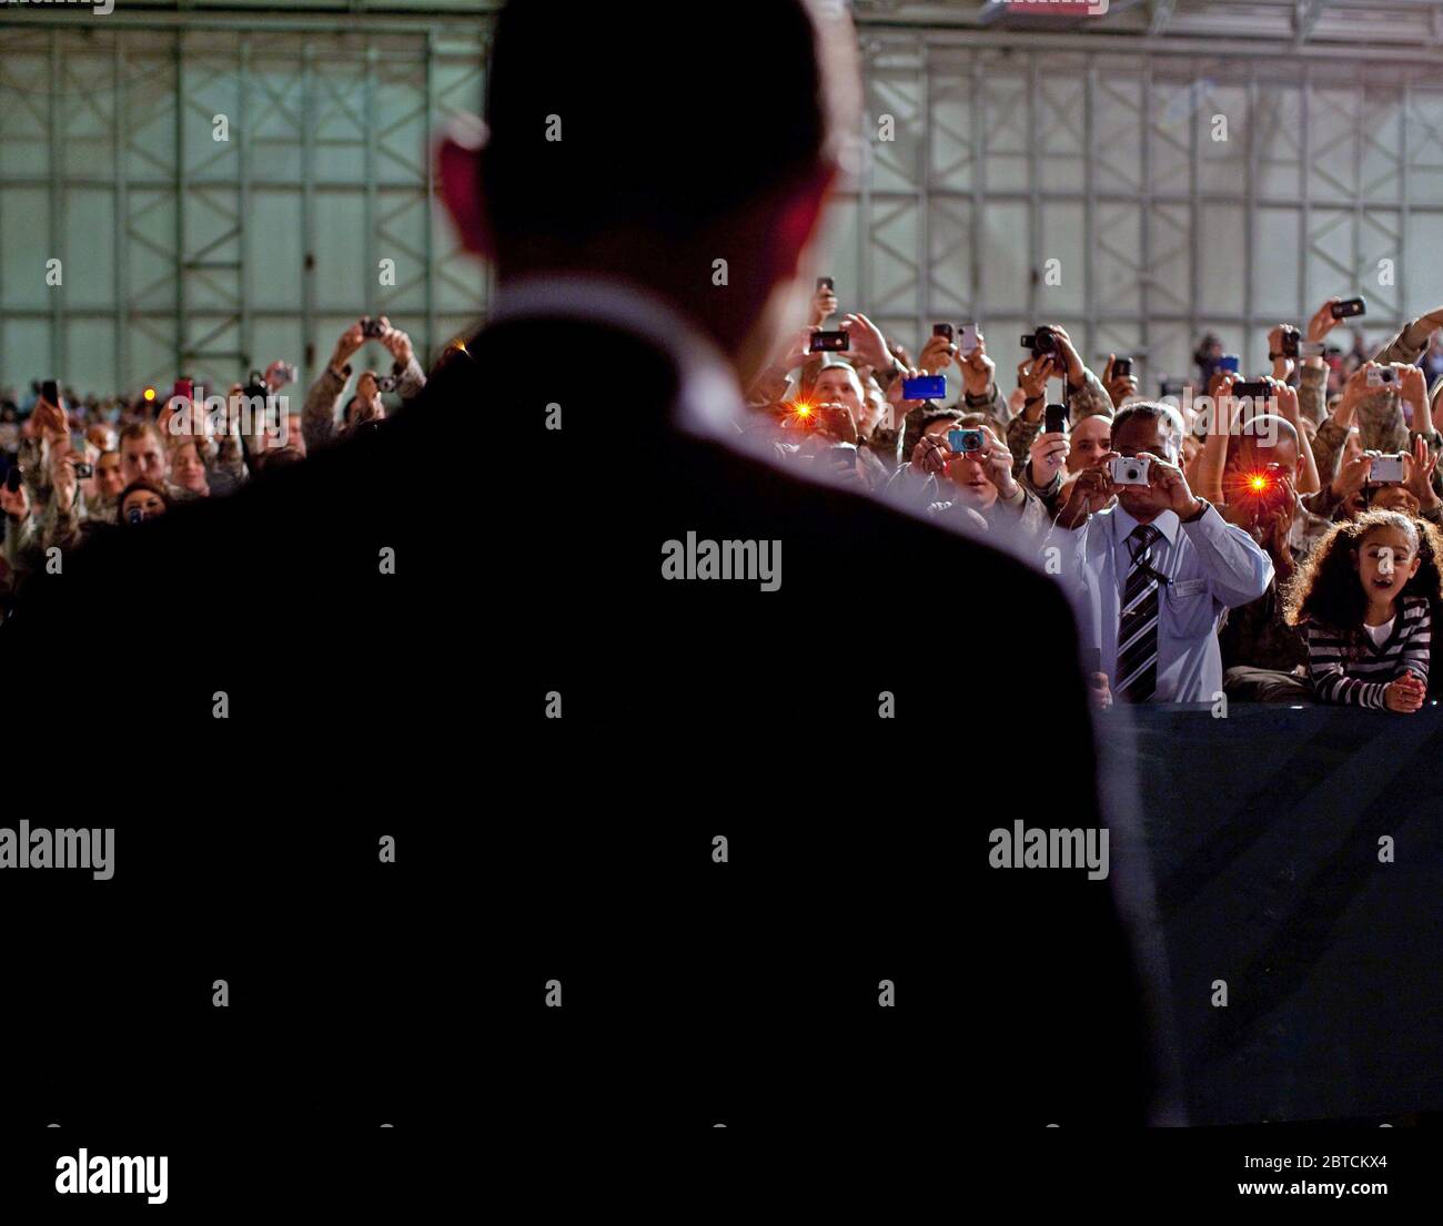
[[[271,358],[309,378],[362,312],[434,352],[488,297],[434,213],[427,144],[479,108],[486,32],[475,16],[0,25],[0,381],[133,391]]]

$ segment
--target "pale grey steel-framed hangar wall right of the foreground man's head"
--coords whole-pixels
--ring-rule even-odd
[[[1427,48],[1146,45],[863,26],[866,156],[831,219],[844,304],[908,343],[975,317],[1003,366],[1059,322],[1150,385],[1206,329],[1261,369],[1267,329],[1329,294],[1368,297],[1369,336],[1443,301]]]

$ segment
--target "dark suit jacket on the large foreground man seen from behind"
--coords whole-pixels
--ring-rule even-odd
[[[95,674],[110,731],[159,773],[117,753],[113,782],[149,796],[146,829],[214,852],[202,914],[234,887],[306,933],[302,899],[342,888],[317,886],[328,855],[369,861],[375,831],[420,844],[401,860],[431,871],[411,877],[424,927],[374,1008],[437,1020],[413,1072],[439,1073],[437,959],[469,951],[518,1118],[595,1126],[605,1098],[823,1128],[1141,1121],[1111,883],[987,864],[1014,819],[1107,819],[1058,587],[678,430],[677,382],[623,332],[496,325],[377,430],[68,558],[4,632],[10,659],[65,727],[71,649],[118,645]],[[779,541],[779,588],[664,578],[688,532]],[[229,822],[280,824],[290,860],[228,867]],[[355,831],[372,851],[345,850]],[[147,844],[154,864],[170,848]],[[553,968],[570,1013],[538,1023]]]

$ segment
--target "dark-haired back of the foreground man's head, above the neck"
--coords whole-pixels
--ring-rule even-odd
[[[830,175],[857,105],[841,12],[512,0],[496,20],[481,172],[498,260],[528,238],[680,238]]]

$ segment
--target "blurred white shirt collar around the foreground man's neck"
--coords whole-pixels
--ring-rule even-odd
[[[593,320],[649,340],[677,363],[675,424],[697,434],[736,437],[743,404],[736,371],[710,336],[649,290],[596,273],[518,277],[498,288],[486,322],[537,316]]]

